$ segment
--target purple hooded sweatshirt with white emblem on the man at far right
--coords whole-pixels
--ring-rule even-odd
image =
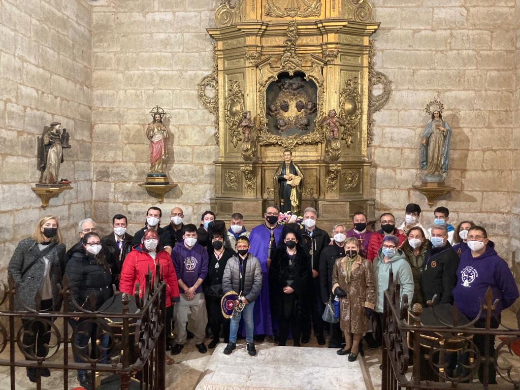
[[[498,299],[495,313],[500,315],[503,309],[510,307],[518,298],[518,288],[508,263],[495,251],[495,244],[489,241],[486,250],[480,256],[473,257],[467,243],[461,243],[457,284],[453,289],[454,304],[462,314],[472,320],[480,309],[480,300],[488,287],[493,292],[493,301]],[[483,311],[480,317],[485,317]]]

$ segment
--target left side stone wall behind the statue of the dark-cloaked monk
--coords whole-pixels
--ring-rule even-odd
[[[0,277],[37,220],[56,215],[68,245],[92,209],[91,18],[87,0],[0,2]],[[46,210],[31,186],[40,178],[36,137],[61,122],[71,135],[60,177],[73,190]]]

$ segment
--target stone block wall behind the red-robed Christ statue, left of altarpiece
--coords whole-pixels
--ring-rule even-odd
[[[158,205],[143,183],[150,168],[145,135],[159,105],[169,123],[168,176],[178,184],[162,205],[163,223],[174,205],[197,223],[214,195],[218,149],[213,118],[201,106],[197,83],[211,72],[214,27],[211,0],[107,0],[93,3],[94,218],[105,230],[115,213],[136,231]]]

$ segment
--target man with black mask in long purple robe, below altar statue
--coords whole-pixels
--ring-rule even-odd
[[[282,226],[278,223],[280,211],[276,206],[268,206],[264,213],[265,223],[251,230],[249,253],[255,256],[262,268],[262,290],[254,307],[255,340],[262,342],[265,335],[272,335],[271,308],[269,306],[270,248],[274,250],[280,240]]]

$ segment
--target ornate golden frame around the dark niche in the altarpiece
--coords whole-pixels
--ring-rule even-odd
[[[258,64],[260,70],[260,76],[258,77],[258,110],[260,113],[260,126],[258,131],[258,144],[261,146],[266,145],[280,145],[285,149],[293,149],[296,145],[302,144],[317,144],[323,142],[323,129],[318,126],[317,119],[321,118],[324,114],[324,100],[325,100],[325,87],[324,77],[322,74],[322,68],[327,61],[322,58],[311,55],[312,59],[309,67],[302,66],[295,69],[273,69],[271,67],[270,57]],[[305,74],[305,80],[312,80],[318,87],[318,113],[316,115],[315,127],[309,134],[298,136],[291,135],[287,138],[282,138],[279,135],[271,134],[267,127],[267,112],[265,106],[267,87],[273,81],[278,79],[281,73],[289,73],[290,76],[294,75],[295,72],[301,72]]]

